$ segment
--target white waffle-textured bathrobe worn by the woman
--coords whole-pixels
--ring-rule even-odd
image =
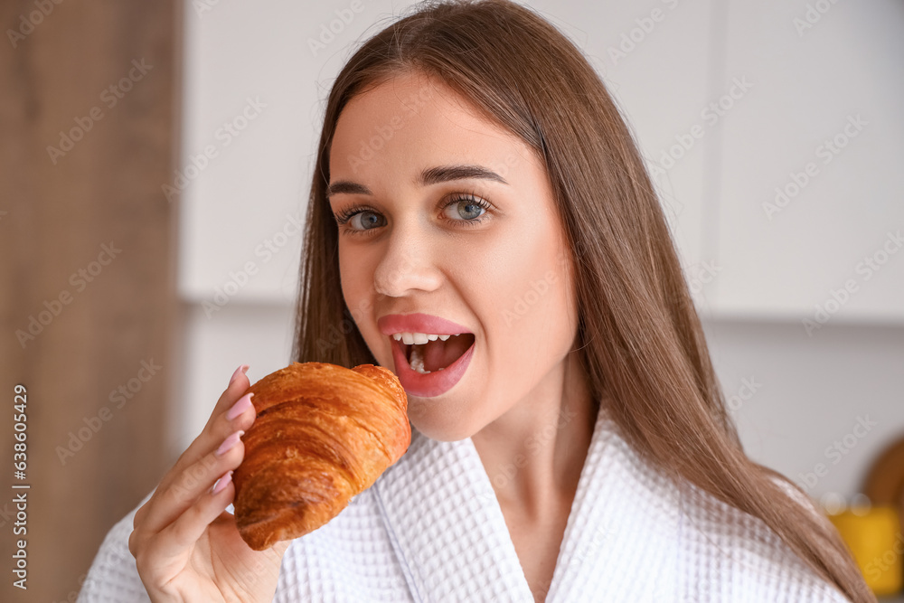
[[[546,601],[849,601],[765,523],[687,486],[678,496],[600,413]],[[127,546],[134,513],[79,601],[148,600]],[[471,438],[416,429],[371,488],[290,544],[273,600],[533,602]]]

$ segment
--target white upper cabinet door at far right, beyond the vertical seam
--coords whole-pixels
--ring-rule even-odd
[[[893,0],[728,3],[716,316],[904,322],[902,33]]]

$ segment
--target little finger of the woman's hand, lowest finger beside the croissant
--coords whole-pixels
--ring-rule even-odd
[[[212,489],[205,491],[155,538],[154,551],[163,559],[191,551],[207,527],[221,515],[235,495],[232,472],[220,476]],[[214,492],[213,490],[216,490]],[[233,520],[234,521],[234,520]]]

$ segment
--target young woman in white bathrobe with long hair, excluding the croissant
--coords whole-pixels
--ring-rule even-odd
[[[419,5],[365,42],[306,229],[293,360],[391,367],[409,450],[251,551],[224,513],[242,367],[83,598],[875,600],[807,495],[745,455],[634,141],[532,10]]]

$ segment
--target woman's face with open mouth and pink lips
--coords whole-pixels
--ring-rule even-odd
[[[377,362],[400,376],[415,428],[457,440],[516,407],[558,404],[578,321],[570,254],[532,149],[441,82],[405,74],[346,105],[329,165],[332,212],[355,212],[338,227],[345,304]],[[465,328],[385,318],[415,313]],[[400,331],[471,334],[424,346],[434,370],[421,375],[399,360],[420,348],[395,341]]]

